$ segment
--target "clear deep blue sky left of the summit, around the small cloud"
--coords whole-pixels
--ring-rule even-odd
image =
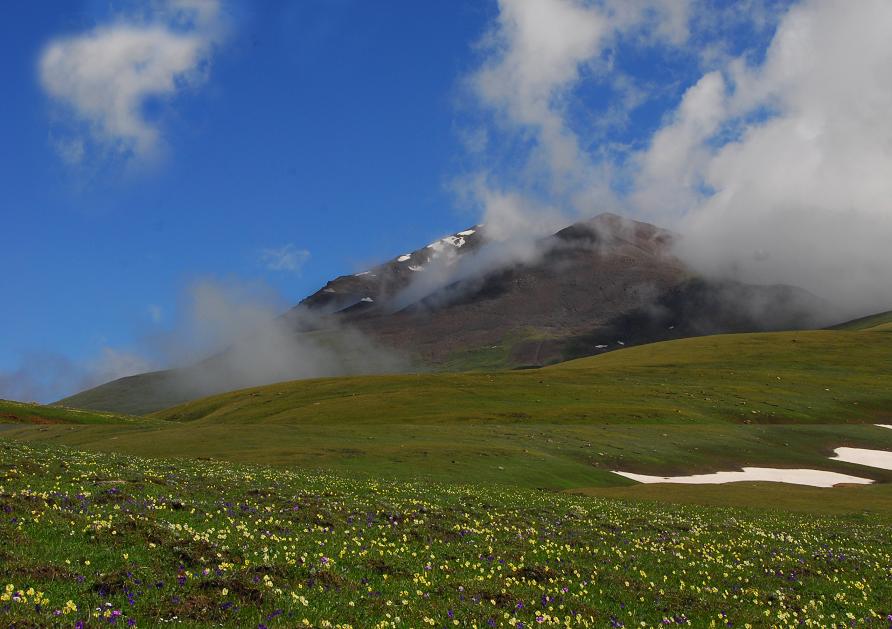
[[[99,2],[6,3],[2,286],[18,305],[0,309],[0,368],[34,351],[78,360],[127,344],[196,277],[259,278],[296,302],[473,223],[444,182],[456,77],[487,11],[390,4],[231,7],[206,80],[158,106],[161,163],[71,168],[54,149],[64,114],[41,89],[38,59],[53,38],[113,17]],[[266,269],[261,252],[288,244],[309,250],[302,269]]]

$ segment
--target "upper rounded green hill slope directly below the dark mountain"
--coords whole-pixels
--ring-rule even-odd
[[[215,424],[864,422],[892,416],[892,335],[811,331],[642,345],[541,370],[286,382],[154,417]]]

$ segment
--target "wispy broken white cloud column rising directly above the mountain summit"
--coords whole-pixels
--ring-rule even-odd
[[[498,208],[491,216],[485,214],[487,223],[541,223],[531,217],[509,217],[504,203],[491,202],[510,198],[514,191],[506,187],[528,194],[539,184],[549,197],[544,205],[559,201],[575,211],[595,204],[615,205],[609,189],[613,166],[594,159],[584,148],[589,138],[580,138],[569,123],[567,104],[580,81],[592,78],[615,81],[627,106],[640,104],[640,90],[629,78],[611,74],[613,59],[607,53],[622,36],[642,45],[684,42],[689,6],[687,0],[500,0],[498,18],[482,42],[486,57],[469,83],[495,127],[523,138],[527,154],[515,168],[513,181],[476,186],[487,191],[479,202]],[[618,111],[608,115],[625,120]],[[607,116],[602,122],[610,124]],[[471,175],[475,181],[481,177],[487,179],[489,174]],[[543,203],[510,204],[518,212],[536,205]]]

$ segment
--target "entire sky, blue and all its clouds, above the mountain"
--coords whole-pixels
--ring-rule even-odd
[[[876,202],[889,86],[871,70],[887,67],[888,5],[844,4],[6,2],[0,385],[70,393],[64,376],[12,387],[35,365],[144,353],[197,280],[284,306],[480,220],[510,238],[620,211],[689,231],[698,268],[835,295],[852,252],[828,235],[875,238],[858,260],[876,274],[892,214]],[[122,50],[132,64],[109,70]],[[146,88],[156,70],[169,85]],[[875,111],[846,99],[859,90]],[[774,181],[816,152],[826,163]],[[820,229],[771,236],[804,211]]]

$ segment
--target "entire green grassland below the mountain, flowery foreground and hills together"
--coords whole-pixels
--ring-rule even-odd
[[[829,458],[892,450],[885,324],[285,382],[146,417],[3,402],[0,622],[888,627],[892,471]],[[742,466],[875,482],[613,473]]]

